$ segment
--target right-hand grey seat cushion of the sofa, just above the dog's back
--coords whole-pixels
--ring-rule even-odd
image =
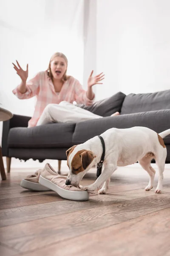
[[[79,122],[74,130],[73,143],[84,143],[110,128],[123,129],[133,126],[144,126],[157,133],[170,129],[170,109],[108,116]],[[170,135],[164,139],[164,142],[170,144]]]

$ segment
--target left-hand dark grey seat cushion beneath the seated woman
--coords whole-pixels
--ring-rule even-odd
[[[75,124],[54,123],[31,128],[11,128],[8,134],[9,148],[71,147]]]

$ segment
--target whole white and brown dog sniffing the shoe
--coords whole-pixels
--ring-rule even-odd
[[[132,127],[127,129],[111,128],[100,136],[105,141],[104,170],[96,181],[83,190],[99,190],[99,194],[107,193],[110,177],[116,171],[117,166],[127,166],[137,161],[150,176],[149,184],[145,190],[153,188],[155,170],[150,162],[155,159],[159,169],[159,180],[155,193],[160,193],[163,182],[164,164],[167,157],[167,149],[162,138],[170,134],[170,129],[157,134],[146,127]],[[67,164],[70,169],[66,185],[79,185],[79,181],[91,167],[100,162],[102,156],[102,143],[98,136],[82,143],[74,145],[66,151]]]

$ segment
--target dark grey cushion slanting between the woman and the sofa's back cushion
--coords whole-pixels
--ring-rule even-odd
[[[115,113],[116,111],[121,111],[125,96],[126,95],[124,93],[119,92],[107,99],[94,102],[94,104],[91,106],[85,106],[83,104],[79,104],[77,106],[91,111],[99,116],[111,116],[111,114]]]

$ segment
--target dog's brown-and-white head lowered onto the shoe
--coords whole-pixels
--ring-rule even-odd
[[[90,164],[96,156],[90,150],[78,150],[76,145],[69,148],[66,151],[66,155],[67,165],[70,171],[65,184],[77,186],[82,177],[90,169]]]

